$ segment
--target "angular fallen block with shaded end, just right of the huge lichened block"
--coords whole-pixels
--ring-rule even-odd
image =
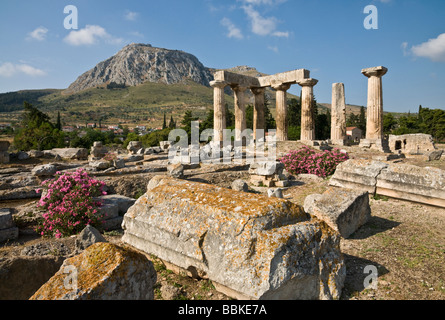
[[[304,210],[325,221],[343,238],[348,238],[371,217],[367,191],[340,188],[306,197]]]

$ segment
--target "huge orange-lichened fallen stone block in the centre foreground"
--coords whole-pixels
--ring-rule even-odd
[[[156,176],[122,226],[123,242],[238,299],[338,299],[344,283],[339,234],[284,199]]]

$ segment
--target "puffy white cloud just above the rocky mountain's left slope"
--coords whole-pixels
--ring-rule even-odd
[[[73,30],[66,37],[65,42],[73,46],[93,45],[103,39],[110,44],[121,44],[123,39],[114,38],[101,26],[87,25],[84,29]]]

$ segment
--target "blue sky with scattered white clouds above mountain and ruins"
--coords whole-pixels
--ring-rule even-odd
[[[67,5],[77,8],[76,30],[64,27]],[[378,29],[364,26],[368,5]],[[444,17],[443,0],[2,0],[0,92],[67,88],[136,42],[192,53],[212,68],[305,68],[324,103],[343,82],[346,102],[366,105],[360,71],[383,65],[386,111],[445,109]]]

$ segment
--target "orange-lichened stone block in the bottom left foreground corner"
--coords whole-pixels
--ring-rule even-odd
[[[66,259],[30,300],[153,300],[155,283],[156,271],[143,254],[100,242]]]

